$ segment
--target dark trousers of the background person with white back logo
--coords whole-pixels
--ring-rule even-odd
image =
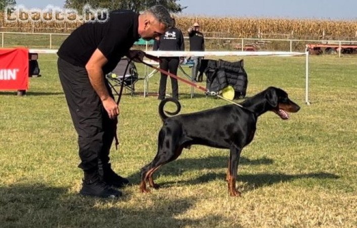
[[[160,58],[160,68],[174,75],[177,75],[177,68],[179,68],[180,59],[177,58]],[[166,82],[167,82],[167,75],[161,73],[160,78],[160,86],[159,86],[159,99],[164,99],[166,95]],[[171,88],[172,88],[172,97],[179,99],[179,84],[177,83],[177,79],[171,78]]]

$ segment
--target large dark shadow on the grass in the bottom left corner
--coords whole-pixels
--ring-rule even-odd
[[[225,221],[217,215],[176,218],[194,206],[194,197],[157,196],[148,202],[131,196],[118,200],[82,197],[65,187],[38,183],[14,184],[0,186],[0,221],[2,227],[212,227]]]

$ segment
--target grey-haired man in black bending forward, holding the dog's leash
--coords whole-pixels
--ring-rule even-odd
[[[81,195],[115,198],[112,187],[128,183],[109,163],[119,107],[105,80],[126,55],[140,61],[144,52],[129,50],[140,37],[155,39],[172,26],[163,6],[143,14],[129,10],[109,13],[106,22],[88,22],[74,30],[58,50],[58,73],[74,128],[78,134],[79,168],[84,171]]]

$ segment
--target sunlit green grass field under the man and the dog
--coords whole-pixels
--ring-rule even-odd
[[[40,55],[42,77],[30,79],[26,96],[0,92],[0,226],[356,227],[357,57],[310,58],[310,106],[304,57],[244,59],[247,96],[280,87],[301,110],[289,121],[259,118],[239,163],[242,197],[228,194],[229,151],[198,145],[155,173],[162,188],[141,194],[140,169],[156,154],[162,123],[156,97],[138,94],[122,97],[120,147],[111,151],[114,170],[131,183],[119,200],[101,200],[77,194],[82,172],[57,57]],[[158,81],[150,79],[151,92]],[[143,81],[136,85],[143,92]],[[182,113],[227,104],[200,91],[191,99],[179,85]]]

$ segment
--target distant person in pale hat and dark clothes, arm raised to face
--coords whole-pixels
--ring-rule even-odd
[[[203,33],[200,32],[200,25],[195,22],[192,27],[189,28],[189,37],[190,37],[190,51],[204,51],[204,36]],[[194,79],[197,82],[202,82],[202,72],[200,73],[199,77],[197,78],[198,70],[201,66],[202,57],[192,57],[191,58],[194,62]]]

